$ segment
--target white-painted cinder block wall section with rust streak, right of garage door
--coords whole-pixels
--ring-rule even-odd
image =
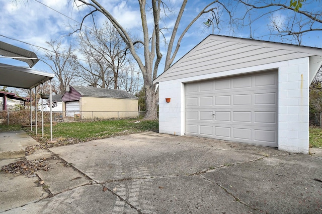
[[[309,58],[279,67],[278,149],[308,154]]]

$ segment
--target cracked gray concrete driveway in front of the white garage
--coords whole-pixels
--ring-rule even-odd
[[[43,157],[37,177],[0,173],[0,212],[322,213],[318,156],[145,132],[27,159]]]

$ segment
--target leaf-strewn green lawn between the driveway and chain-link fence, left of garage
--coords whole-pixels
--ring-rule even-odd
[[[137,122],[139,121],[139,122]],[[52,147],[77,142],[84,142],[94,139],[107,138],[111,136],[131,134],[144,131],[158,131],[158,121],[145,121],[137,119],[127,120],[106,120],[91,122],[69,122],[53,125],[53,141],[50,141],[50,127],[44,127],[42,137],[41,127],[30,131],[30,127],[22,128],[21,125],[0,125],[0,131],[24,130],[44,146]]]

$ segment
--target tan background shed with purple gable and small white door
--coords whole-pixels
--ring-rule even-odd
[[[138,98],[123,90],[69,86],[61,100],[64,116],[81,119],[138,116]]]

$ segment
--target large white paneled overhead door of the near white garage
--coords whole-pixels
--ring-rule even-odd
[[[185,134],[277,147],[277,71],[185,85]]]

